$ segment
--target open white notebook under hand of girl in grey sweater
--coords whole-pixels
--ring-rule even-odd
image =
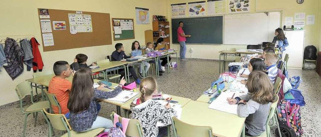
[[[219,97],[217,97],[209,106],[210,109],[216,109],[223,112],[231,113],[237,115],[237,104],[229,104],[229,102],[226,100],[227,98],[231,98],[233,96],[233,93],[235,93],[234,97],[239,97],[241,95],[247,94],[247,92],[242,91],[232,91],[228,90],[226,92],[222,92]]]

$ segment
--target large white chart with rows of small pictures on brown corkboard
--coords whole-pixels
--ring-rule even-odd
[[[92,32],[91,15],[68,13],[70,33]]]

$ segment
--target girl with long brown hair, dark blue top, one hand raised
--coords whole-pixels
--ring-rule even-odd
[[[104,127],[105,132],[113,127],[113,122],[107,118],[98,116],[100,105],[96,99],[108,99],[117,96],[126,83],[124,77],[119,85],[110,92],[101,91],[106,85],[92,88],[94,81],[89,68],[79,69],[73,78],[72,90],[68,101],[70,110],[70,125],[77,132],[86,132],[96,128]]]

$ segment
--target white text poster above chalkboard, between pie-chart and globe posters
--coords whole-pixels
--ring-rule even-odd
[[[225,14],[226,0],[207,0],[207,15]]]

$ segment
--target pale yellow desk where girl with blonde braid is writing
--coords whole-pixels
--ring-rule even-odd
[[[137,90],[138,91],[138,90]],[[178,97],[174,95],[169,95],[173,101],[178,101],[178,104],[180,104],[182,107],[185,106],[191,99],[184,98],[184,97]],[[140,94],[138,94],[137,97],[140,97]],[[134,100],[134,99],[133,99]],[[129,118],[129,113],[130,113],[130,104],[132,102],[126,102],[122,106],[120,106],[125,112],[126,112],[126,118]]]

